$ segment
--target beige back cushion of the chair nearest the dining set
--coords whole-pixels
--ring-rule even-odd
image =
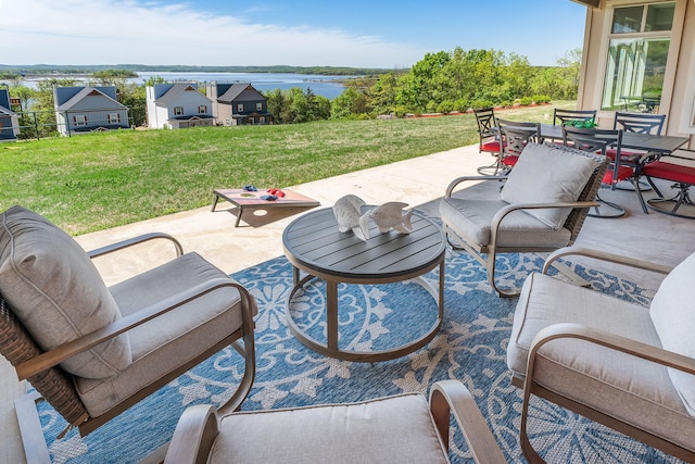
[[[566,147],[545,143],[526,146],[509,173],[501,198],[507,203],[558,203],[577,201],[601,158]],[[543,224],[563,227],[571,209],[527,210]]]

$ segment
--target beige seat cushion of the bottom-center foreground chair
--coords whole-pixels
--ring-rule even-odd
[[[210,463],[447,463],[427,400],[408,393],[353,404],[233,413]]]

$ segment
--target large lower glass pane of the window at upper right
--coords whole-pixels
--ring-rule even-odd
[[[658,112],[670,41],[611,40],[601,109]]]

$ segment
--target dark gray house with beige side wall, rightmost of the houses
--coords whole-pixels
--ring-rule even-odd
[[[206,93],[218,124],[273,124],[268,100],[251,84],[210,83]]]

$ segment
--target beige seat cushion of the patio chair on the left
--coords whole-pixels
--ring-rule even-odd
[[[197,253],[111,287],[123,315],[212,278],[229,278]],[[212,291],[129,331],[132,363],[105,380],[77,379],[77,391],[92,416],[192,360],[241,327],[239,291]]]

